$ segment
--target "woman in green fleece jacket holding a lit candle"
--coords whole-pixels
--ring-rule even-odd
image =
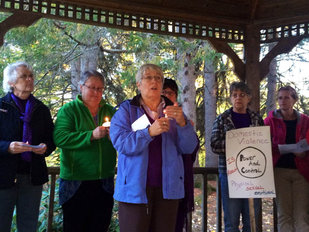
[[[104,84],[99,72],[83,72],[81,95],[57,114],[53,138],[61,148],[59,204],[65,232],[105,232],[111,221],[116,150],[109,127],[102,124],[115,111],[102,99]]]

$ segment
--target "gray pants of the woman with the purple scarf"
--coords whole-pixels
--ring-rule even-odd
[[[30,175],[16,174],[16,184],[0,190],[0,231],[10,232],[14,207],[18,232],[36,232],[43,185],[34,186]]]

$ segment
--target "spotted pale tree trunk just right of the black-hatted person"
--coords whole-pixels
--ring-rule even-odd
[[[184,39],[190,42],[192,39]],[[177,52],[177,54],[179,54]],[[188,119],[194,122],[194,130],[196,131],[196,89],[195,89],[195,67],[190,61],[192,59],[191,51],[184,51],[178,55],[180,65],[178,69],[177,79],[180,80],[180,103],[184,114],[187,115]],[[198,161],[198,155],[197,159]],[[197,165],[199,166],[198,162]]]

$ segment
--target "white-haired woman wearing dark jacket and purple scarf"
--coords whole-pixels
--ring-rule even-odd
[[[17,230],[35,232],[42,187],[48,182],[45,157],[56,148],[53,120],[31,94],[34,72],[28,63],[18,61],[4,69],[3,89],[7,94],[0,98],[0,230],[11,231],[16,205]]]

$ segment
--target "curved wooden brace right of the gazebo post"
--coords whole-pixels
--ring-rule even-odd
[[[289,53],[301,40],[301,38],[288,38],[279,41],[260,61],[260,80],[264,79],[269,73],[269,65],[273,58],[280,54]]]

